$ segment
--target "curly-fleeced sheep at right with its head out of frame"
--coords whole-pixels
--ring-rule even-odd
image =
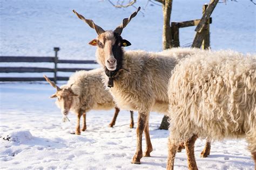
[[[245,138],[256,164],[255,69],[255,54],[233,51],[198,53],[179,62],[168,87],[167,169],[173,169],[180,141],[185,141],[188,168],[197,169],[198,137]]]

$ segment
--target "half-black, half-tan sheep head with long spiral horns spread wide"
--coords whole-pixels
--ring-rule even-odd
[[[96,25],[91,19],[85,19],[73,10],[79,19],[84,20],[92,29],[96,30],[98,37],[90,41],[89,45],[97,46],[96,56],[98,63],[110,71],[122,68],[123,47],[130,46],[131,43],[123,39],[121,34],[124,27],[137,15],[139,10],[140,7],[129,18],[124,18],[122,24],[116,27],[114,31],[104,31],[102,27]]]

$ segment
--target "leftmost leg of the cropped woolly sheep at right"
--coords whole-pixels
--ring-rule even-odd
[[[177,152],[178,146],[174,143],[174,140],[169,137],[168,140],[168,158],[167,158],[167,170],[173,170],[174,158]]]

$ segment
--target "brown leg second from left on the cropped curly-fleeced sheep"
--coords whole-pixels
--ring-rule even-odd
[[[185,141],[188,169],[198,169],[196,159],[194,158],[194,143],[197,138],[198,136],[193,134],[190,139]]]

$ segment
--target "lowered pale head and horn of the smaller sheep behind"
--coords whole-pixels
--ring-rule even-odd
[[[56,88],[57,91],[55,94],[51,95],[51,98],[57,98],[56,105],[62,110],[64,116],[69,114],[71,105],[73,103],[73,97],[78,96],[71,89],[72,85],[66,88],[59,88],[54,82],[52,82],[46,75],[44,78],[47,82],[51,84],[52,87]]]

